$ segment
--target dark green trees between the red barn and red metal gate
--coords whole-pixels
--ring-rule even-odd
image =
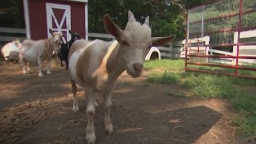
[[[89,32],[106,33],[103,26],[103,16],[111,15],[113,21],[125,28],[127,13],[131,10],[136,20],[144,22],[147,15],[150,16],[152,36],[167,36],[175,34],[175,40],[184,39],[185,10],[211,0],[90,0],[88,3],[88,27]]]

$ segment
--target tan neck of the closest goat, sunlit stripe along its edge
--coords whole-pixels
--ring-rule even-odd
[[[120,57],[120,44],[117,41],[113,42],[109,47],[109,51],[104,57],[104,62],[110,79],[117,79],[124,72],[125,67],[122,65]]]

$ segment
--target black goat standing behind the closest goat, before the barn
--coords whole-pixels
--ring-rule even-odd
[[[70,30],[68,32],[71,34],[71,40],[68,41],[66,44],[61,44],[60,50],[58,51],[61,67],[63,67],[62,61],[65,61],[66,69],[68,69],[68,52],[70,50],[70,47],[73,44],[73,42],[80,39],[80,35],[82,34],[72,33]]]

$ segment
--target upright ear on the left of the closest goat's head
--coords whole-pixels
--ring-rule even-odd
[[[116,24],[113,22],[111,17],[106,14],[103,17],[103,22],[104,22],[104,28],[106,31],[110,34],[115,36],[116,40],[120,40],[120,35],[122,33],[122,30],[116,26]]]

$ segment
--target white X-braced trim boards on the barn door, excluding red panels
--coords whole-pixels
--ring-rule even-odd
[[[58,32],[65,31],[67,33],[67,41],[70,40],[71,35],[70,35],[70,33],[68,33],[68,31],[71,30],[70,5],[46,3],[45,6],[46,6],[47,36],[48,36],[48,38],[51,37],[51,33],[49,33],[49,31],[48,31],[49,28],[51,28],[53,31],[58,31]],[[54,15],[54,12],[52,11],[52,8],[65,10],[65,12],[63,13],[63,16],[61,18],[60,24],[58,23],[58,20],[56,19],[55,15]],[[52,28],[52,18],[53,18],[53,21],[54,21],[55,25],[57,26],[57,28]],[[67,29],[62,28],[62,26],[65,22],[65,19],[66,19]],[[63,42],[64,43],[66,42],[65,38],[63,38]]]

